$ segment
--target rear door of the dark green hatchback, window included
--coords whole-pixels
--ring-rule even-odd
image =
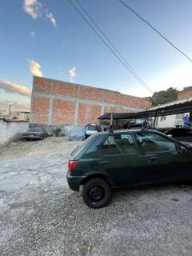
[[[132,134],[110,134],[100,148],[100,165],[114,186],[143,182],[143,156]]]

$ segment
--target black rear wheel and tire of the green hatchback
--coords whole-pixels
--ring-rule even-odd
[[[83,185],[82,198],[87,206],[102,208],[110,202],[110,185],[102,178],[92,178]]]

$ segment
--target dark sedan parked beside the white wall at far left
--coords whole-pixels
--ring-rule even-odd
[[[42,127],[31,127],[26,133],[22,134],[23,139],[43,139],[48,137],[50,134],[46,129]]]

